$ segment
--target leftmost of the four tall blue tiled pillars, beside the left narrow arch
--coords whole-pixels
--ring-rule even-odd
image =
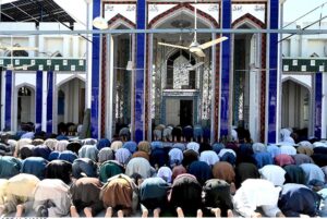
[[[93,19],[101,14],[101,0],[93,1]],[[92,37],[90,135],[99,137],[100,35]]]

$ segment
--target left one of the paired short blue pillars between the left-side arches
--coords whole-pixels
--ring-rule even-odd
[[[44,88],[44,72],[36,72],[36,96],[35,96],[35,132],[41,131],[43,124],[43,88]]]

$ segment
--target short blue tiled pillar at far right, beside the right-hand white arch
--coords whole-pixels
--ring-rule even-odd
[[[323,73],[315,74],[315,137],[322,137]]]

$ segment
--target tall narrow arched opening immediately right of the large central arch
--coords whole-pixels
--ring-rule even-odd
[[[234,27],[258,28],[250,21]],[[261,77],[265,74],[261,60],[261,36],[235,34],[233,42],[232,125],[247,130],[251,138],[257,142],[261,136]]]

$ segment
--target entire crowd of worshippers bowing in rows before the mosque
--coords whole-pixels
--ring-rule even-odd
[[[281,136],[210,145],[2,133],[0,216],[327,217],[327,143]]]

